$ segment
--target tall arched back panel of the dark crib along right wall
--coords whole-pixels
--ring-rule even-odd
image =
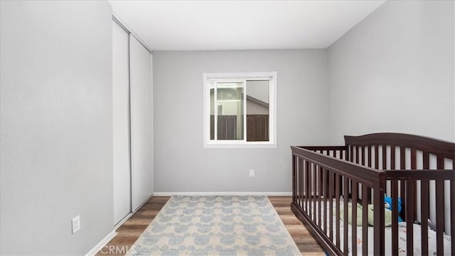
[[[438,229],[446,232],[450,230],[450,222],[454,221],[454,202],[450,202],[454,201],[454,196],[450,195],[455,194],[455,185],[453,177],[451,182],[448,180],[444,182],[442,173],[437,170],[455,169],[455,143],[403,133],[346,135],[344,138],[346,157],[350,162],[383,169],[390,174],[394,170],[404,169],[429,172],[430,177],[412,183],[406,182],[403,177],[397,182],[398,191],[392,189],[391,182],[387,181],[386,194],[394,197],[395,191],[395,196],[400,196],[402,204],[406,206],[403,207],[401,214],[403,219],[411,214],[411,218],[422,221],[422,224],[427,226],[428,219],[434,221],[442,218],[445,219],[444,225],[442,221],[438,221]],[[437,212],[437,204],[444,204],[449,211]],[[422,207],[425,208],[424,211]],[[447,212],[451,213],[451,216],[446,214]],[[454,231],[451,230],[451,233]]]

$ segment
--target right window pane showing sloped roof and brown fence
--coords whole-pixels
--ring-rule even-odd
[[[247,81],[247,141],[269,141],[269,80]]]

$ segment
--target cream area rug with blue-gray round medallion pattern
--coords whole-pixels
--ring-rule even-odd
[[[301,255],[267,196],[172,196],[127,255]]]

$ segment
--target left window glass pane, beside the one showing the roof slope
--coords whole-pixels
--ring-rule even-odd
[[[243,82],[217,83],[218,140],[243,140]]]

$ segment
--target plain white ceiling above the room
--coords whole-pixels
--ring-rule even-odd
[[[119,1],[151,50],[327,48],[385,1]]]

